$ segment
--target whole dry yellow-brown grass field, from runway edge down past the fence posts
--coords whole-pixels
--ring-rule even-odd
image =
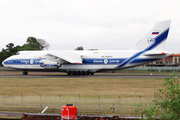
[[[139,103],[139,95],[142,102],[148,104],[154,98],[154,93],[163,88],[163,83],[163,78],[0,78],[0,93],[5,96],[6,110],[21,111],[22,94],[24,110],[38,112],[41,94],[43,108],[51,105],[49,112],[53,113],[59,112],[58,94],[61,95],[61,106],[66,103],[78,106],[79,94],[81,113],[93,114],[98,113],[98,95],[101,98],[101,112],[105,113],[114,103],[115,113],[118,114],[120,95],[121,105],[124,105],[121,113],[129,114]],[[0,108],[3,107],[1,96]]]

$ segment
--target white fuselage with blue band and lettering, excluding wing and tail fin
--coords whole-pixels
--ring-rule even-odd
[[[69,51],[81,56],[82,64],[64,63],[57,67],[57,62],[49,63],[49,67],[41,67],[41,60],[53,60],[56,58],[46,56],[52,51],[21,51],[18,55],[13,55],[3,62],[5,67],[20,69],[24,71],[89,71],[100,72],[104,70],[117,70],[133,67],[155,60],[162,59],[170,54],[145,56],[144,53],[137,57],[131,58],[137,50],[114,50],[114,51]],[[61,54],[62,51],[53,51]],[[130,59],[131,58],[131,59]],[[130,59],[125,65],[122,63]]]

